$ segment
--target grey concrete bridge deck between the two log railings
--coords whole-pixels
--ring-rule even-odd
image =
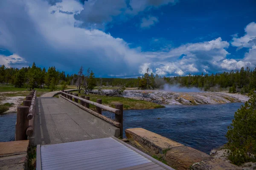
[[[84,111],[55,97],[38,97],[35,144],[58,144],[105,138],[111,135],[88,121]]]

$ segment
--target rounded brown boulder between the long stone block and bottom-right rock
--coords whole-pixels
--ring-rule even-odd
[[[186,146],[173,147],[171,150],[167,151],[165,157],[167,163],[177,170],[187,170],[196,162],[211,159],[211,156],[208,154]]]

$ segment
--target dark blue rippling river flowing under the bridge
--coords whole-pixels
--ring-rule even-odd
[[[242,104],[167,105],[159,109],[126,110],[123,126],[124,129],[142,127],[209,154],[211,149],[227,142],[227,126]],[[15,122],[16,113],[0,115],[0,142],[15,139]]]

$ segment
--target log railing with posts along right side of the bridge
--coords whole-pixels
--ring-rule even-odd
[[[78,94],[73,94],[67,91],[60,91],[61,97],[67,99],[69,102],[77,105],[79,108],[91,113],[92,115],[120,128],[120,136],[123,135],[123,104],[116,104],[115,108],[111,108],[105,105],[102,105],[102,99],[97,99],[97,102],[90,101],[89,96],[78,96]],[[74,98],[74,101],[73,101]],[[78,103],[80,100],[80,104]],[[90,104],[96,106],[96,112],[90,109]],[[115,120],[109,119],[106,116],[102,115],[102,110],[115,113]]]

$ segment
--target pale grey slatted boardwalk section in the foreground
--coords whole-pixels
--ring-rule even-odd
[[[116,138],[38,145],[40,170],[173,170]]]

